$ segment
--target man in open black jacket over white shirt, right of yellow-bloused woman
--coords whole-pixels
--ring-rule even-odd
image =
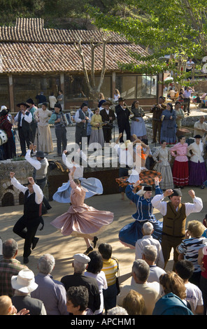
[[[113,121],[115,120],[115,113],[110,109],[110,105],[110,102],[103,103],[103,109],[100,111],[102,121],[105,123],[105,125],[103,125],[103,138],[105,143],[110,143]]]

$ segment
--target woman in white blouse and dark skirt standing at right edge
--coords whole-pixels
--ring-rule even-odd
[[[201,142],[201,135],[194,136],[194,143],[187,147],[189,160],[189,185],[201,186],[204,188],[204,181],[207,179],[206,165],[204,162],[204,144]]]

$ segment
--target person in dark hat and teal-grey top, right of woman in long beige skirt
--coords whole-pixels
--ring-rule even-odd
[[[62,106],[60,104],[55,104],[55,111],[52,113],[50,124],[55,126],[55,135],[57,137],[57,155],[62,157],[62,151],[66,150],[67,137],[66,137],[66,119],[62,113]],[[61,151],[62,145],[62,151]]]

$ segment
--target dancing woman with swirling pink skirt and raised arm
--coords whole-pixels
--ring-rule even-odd
[[[113,213],[110,211],[100,211],[84,203],[86,189],[81,186],[78,179],[73,179],[73,173],[76,167],[69,172],[69,181],[71,186],[71,207],[61,216],[55,218],[51,225],[61,230],[62,235],[75,235],[83,237],[87,245],[85,254],[90,253],[93,247],[90,243],[97,245],[97,236],[104,226],[113,222]]]

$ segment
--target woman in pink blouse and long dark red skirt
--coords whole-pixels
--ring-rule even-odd
[[[171,155],[175,157],[172,174],[176,188],[184,188],[184,186],[188,185],[189,165],[187,146],[187,143],[185,143],[185,136],[179,136],[178,143],[170,148]]]

